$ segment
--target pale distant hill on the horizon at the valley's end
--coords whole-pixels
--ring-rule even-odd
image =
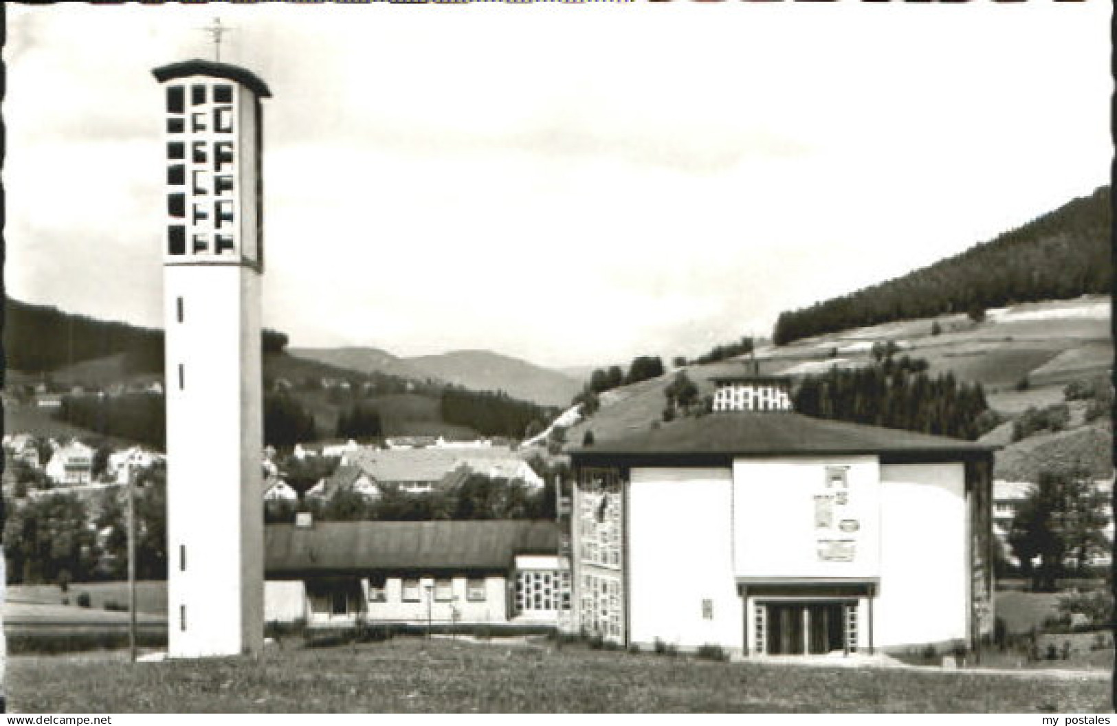
[[[581,381],[569,375],[489,351],[455,351],[404,361],[448,383],[474,391],[504,391],[514,399],[543,405],[566,405],[582,390]]]

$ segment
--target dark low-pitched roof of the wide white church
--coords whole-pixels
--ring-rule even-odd
[[[868,455],[957,458],[996,447],[943,436],[817,419],[793,412],[708,413],[571,451],[575,464],[605,457]]]

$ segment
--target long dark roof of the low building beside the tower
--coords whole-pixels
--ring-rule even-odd
[[[507,570],[517,554],[554,554],[548,520],[323,522],[264,528],[265,573]]]

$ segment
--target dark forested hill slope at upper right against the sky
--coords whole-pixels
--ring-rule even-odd
[[[1101,187],[961,255],[782,313],[773,342],[783,345],[892,321],[1108,294],[1113,286],[1109,203],[1109,187]]]

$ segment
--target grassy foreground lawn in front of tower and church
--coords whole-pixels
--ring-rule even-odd
[[[1109,684],[724,663],[569,646],[397,638],[273,647],[259,659],[131,665],[122,653],[13,657],[8,706],[35,713],[1096,713]]]

